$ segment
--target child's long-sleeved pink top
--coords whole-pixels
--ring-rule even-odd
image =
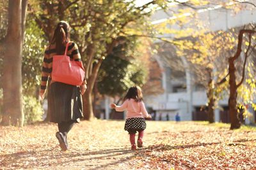
[[[127,99],[121,106],[116,106],[116,111],[124,110],[127,110],[126,118],[148,117],[143,101],[136,102],[134,99]]]

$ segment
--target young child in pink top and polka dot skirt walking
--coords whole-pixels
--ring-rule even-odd
[[[137,145],[139,148],[143,146],[143,132],[146,129],[145,118],[151,118],[145,108],[142,97],[140,87],[134,86],[128,90],[122,106],[116,106],[114,103],[111,104],[111,108],[115,108],[116,111],[127,110],[124,130],[130,134],[131,150],[136,150],[135,134],[137,131],[139,132]]]

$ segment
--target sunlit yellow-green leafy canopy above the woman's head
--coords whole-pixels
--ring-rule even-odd
[[[134,1],[122,0],[30,2],[35,7],[31,8],[31,15],[48,39],[56,23],[67,20],[72,28],[71,38],[79,46],[88,69],[97,66],[92,63],[109,55],[116,38],[142,32],[152,33],[147,17],[161,4],[165,4],[164,1],[152,1],[143,7],[136,6]]]

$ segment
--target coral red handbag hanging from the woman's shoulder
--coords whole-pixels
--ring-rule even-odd
[[[82,85],[84,67],[81,61],[70,59],[67,55],[68,43],[64,55],[54,55],[52,58],[52,81],[68,85]]]

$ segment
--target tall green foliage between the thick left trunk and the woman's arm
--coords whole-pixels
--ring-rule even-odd
[[[29,20],[22,57],[22,87],[25,94],[33,95],[40,85],[45,44],[44,32],[38,28],[35,20]]]

